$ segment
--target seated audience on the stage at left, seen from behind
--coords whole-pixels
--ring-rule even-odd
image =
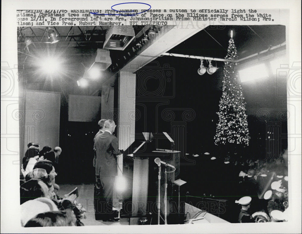
[[[64,198],[58,195],[55,183],[55,165],[62,152],[60,147],[50,152],[49,146],[39,151],[39,145],[30,143],[23,158],[20,181],[21,226],[81,226],[76,194]]]

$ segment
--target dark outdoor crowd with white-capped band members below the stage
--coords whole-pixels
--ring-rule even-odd
[[[209,153],[205,153],[207,155]],[[196,155],[193,154],[194,157]],[[198,155],[199,156],[199,155]],[[204,163],[205,160],[202,160]],[[223,188],[225,194],[233,198],[238,197],[235,203],[241,205],[239,223],[250,222],[284,222],[288,220],[288,152],[284,150],[278,157],[268,157],[265,160],[246,159],[243,156],[227,155],[226,157],[212,156],[207,165],[209,172],[202,178],[209,178],[215,174],[212,168],[216,168],[217,181],[204,197],[220,197]],[[206,171],[207,168],[203,168]],[[221,176],[223,175],[223,177]],[[217,186],[218,182],[225,185]],[[209,196],[210,194],[210,196]],[[242,197],[239,199],[239,196]],[[221,196],[224,198],[223,196]],[[232,200],[226,197],[226,200]],[[234,211],[237,208],[234,208]],[[238,216],[237,216],[238,217]],[[235,221],[235,220],[233,220]],[[236,222],[236,221],[235,221]]]

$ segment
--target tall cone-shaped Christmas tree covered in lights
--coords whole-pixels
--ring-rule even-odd
[[[225,59],[237,60],[237,50],[233,38],[229,40],[229,48]],[[246,102],[238,81],[236,63],[224,63],[222,96],[217,112],[219,121],[214,136],[215,144],[249,145],[249,129],[246,115]]]

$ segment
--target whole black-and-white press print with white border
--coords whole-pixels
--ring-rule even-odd
[[[290,57],[289,11],[260,24],[257,11],[195,5],[204,10],[172,11],[179,24],[160,23],[171,10],[116,24],[71,8],[14,11],[17,63],[1,59],[1,168],[14,168],[1,190],[16,187],[18,231],[298,232],[301,60]],[[186,16],[207,21],[184,27]]]

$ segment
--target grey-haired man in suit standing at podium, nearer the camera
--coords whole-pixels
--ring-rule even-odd
[[[113,211],[113,189],[115,176],[117,176],[117,155],[123,150],[118,149],[117,138],[113,136],[115,130],[113,120],[106,120],[105,131],[95,138],[95,189],[94,205],[95,219],[103,221],[118,221]]]

